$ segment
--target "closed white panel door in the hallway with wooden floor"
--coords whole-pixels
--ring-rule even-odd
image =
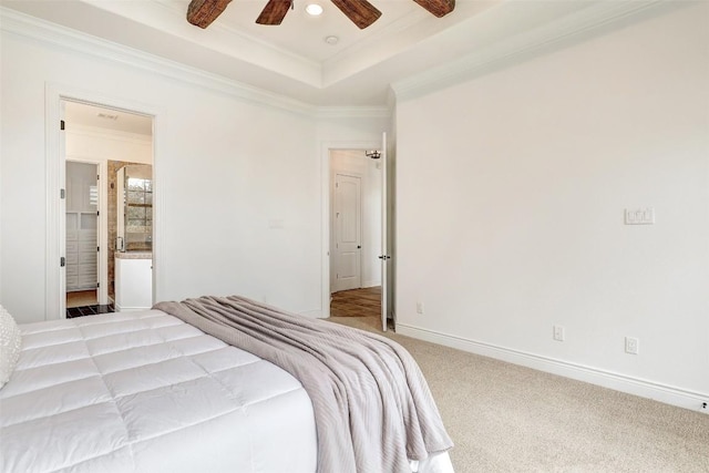
[[[362,287],[361,276],[361,179],[335,176],[335,292]]]

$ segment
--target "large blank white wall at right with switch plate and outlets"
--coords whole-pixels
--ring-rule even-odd
[[[707,18],[703,2],[398,103],[401,331],[709,398]],[[624,225],[647,206],[655,225]]]

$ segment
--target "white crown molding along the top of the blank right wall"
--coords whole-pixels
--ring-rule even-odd
[[[603,1],[566,17],[521,32],[503,41],[481,48],[455,61],[432,68],[392,84],[398,100],[422,96],[461,82],[484,75],[512,63],[518,63],[553,48],[563,48],[583,40],[603,28],[638,17],[659,7],[678,8],[675,0]],[[512,8],[505,2],[496,9]]]

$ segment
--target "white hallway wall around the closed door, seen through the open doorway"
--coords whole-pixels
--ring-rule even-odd
[[[330,202],[335,203],[335,175],[343,173],[361,179],[362,205],[362,287],[381,285],[381,168],[377,161],[364,155],[364,150],[332,150],[330,154]],[[332,217],[331,217],[332,218]],[[331,220],[335,222],[333,219]],[[330,247],[335,245],[335,227],[330,226]],[[336,285],[335,258],[330,258],[330,291]]]

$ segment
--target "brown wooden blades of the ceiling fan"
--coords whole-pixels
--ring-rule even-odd
[[[232,0],[192,0],[187,7],[187,21],[199,28],[207,28],[226,9]],[[256,19],[259,24],[280,24],[294,0],[268,0]],[[367,0],[331,0],[360,30],[372,24],[379,11]],[[443,17],[455,8],[455,0],[413,0],[435,17]]]

